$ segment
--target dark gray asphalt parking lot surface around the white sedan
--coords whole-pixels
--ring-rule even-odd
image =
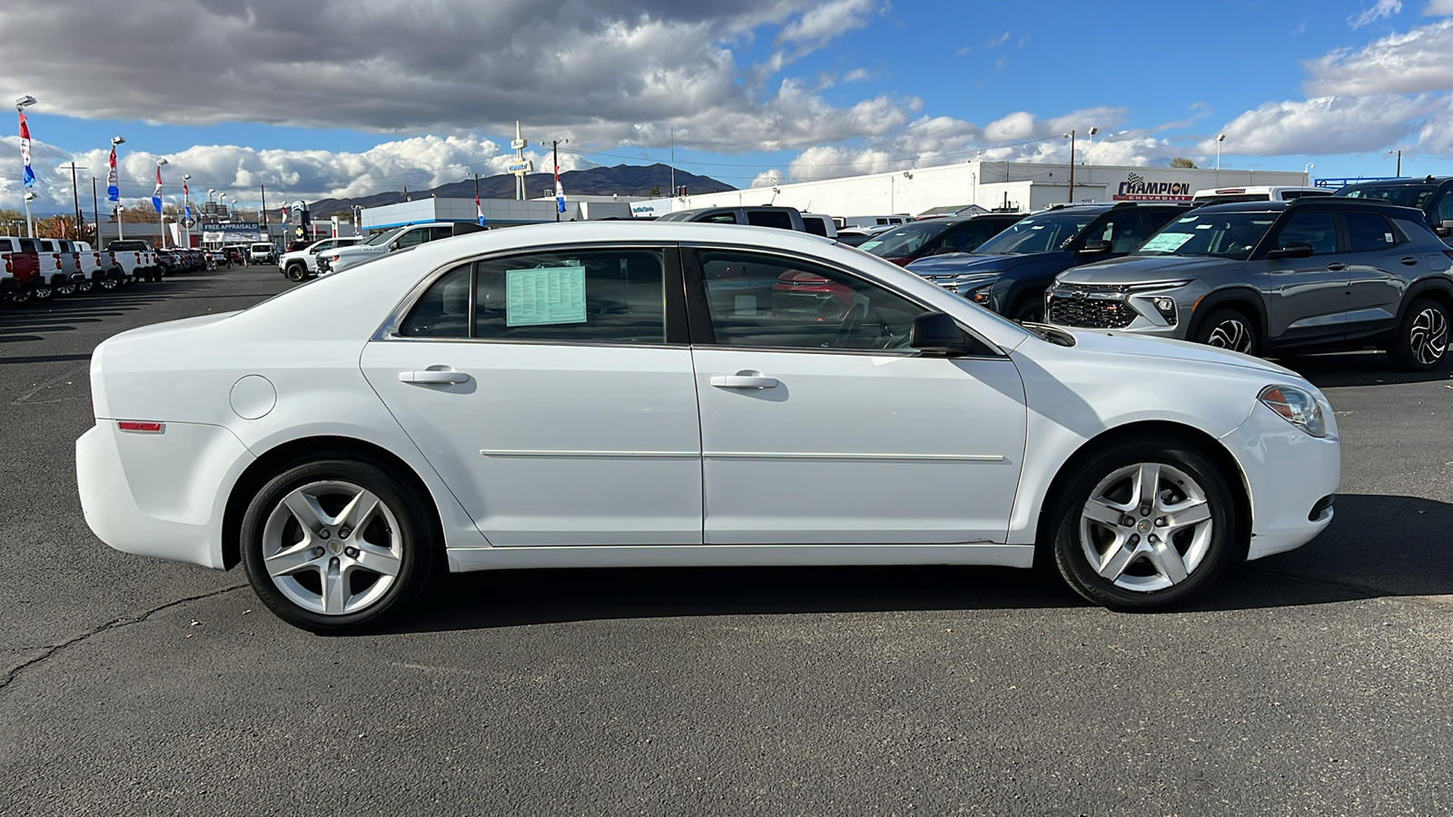
[[[115,552],[87,359],[292,286],[0,310],[0,813],[1437,814],[1453,808],[1453,379],[1289,361],[1337,519],[1191,609],[997,568],[506,571],[320,638],[241,570]]]

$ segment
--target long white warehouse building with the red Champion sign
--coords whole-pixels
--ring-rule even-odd
[[[984,209],[1033,212],[1067,202],[1190,201],[1209,188],[1260,185],[1306,186],[1302,172],[1213,170],[1202,167],[1074,167],[1027,161],[981,161],[895,170],[870,176],[780,183],[724,193],[686,195],[634,202],[636,217],[679,209],[737,205],[786,205],[830,215],[918,215],[934,208],[978,205]]]

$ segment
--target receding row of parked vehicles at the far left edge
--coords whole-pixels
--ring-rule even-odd
[[[134,281],[205,269],[201,250],[153,250],[145,241],[110,241],[93,250],[86,241],[0,236],[0,302],[28,304],[93,289],[110,291]]]

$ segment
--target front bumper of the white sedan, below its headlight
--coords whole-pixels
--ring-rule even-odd
[[[1327,497],[1341,484],[1341,440],[1325,401],[1322,414],[1327,436],[1314,438],[1257,403],[1251,416],[1222,438],[1237,454],[1251,494],[1248,560],[1299,548],[1332,522]]]

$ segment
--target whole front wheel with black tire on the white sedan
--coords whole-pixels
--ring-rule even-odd
[[[1155,488],[1145,506],[1133,491],[1148,470]],[[1129,506],[1112,510],[1119,520],[1091,519],[1112,503]],[[1048,512],[1059,576],[1085,599],[1120,612],[1186,603],[1216,580],[1237,542],[1237,506],[1221,471],[1193,446],[1159,435],[1110,443],[1084,459]],[[1206,518],[1177,523],[1177,516],[1196,519],[1191,513]]]

